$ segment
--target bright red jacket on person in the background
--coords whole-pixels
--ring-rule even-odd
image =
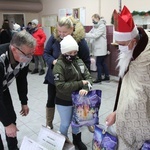
[[[44,42],[46,41],[46,35],[43,29],[38,28],[32,36],[36,39],[36,47],[34,55],[43,55],[44,52]]]

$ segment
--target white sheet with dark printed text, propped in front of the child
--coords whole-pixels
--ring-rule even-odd
[[[38,143],[50,150],[62,150],[65,140],[65,136],[44,126],[41,127],[38,134]]]

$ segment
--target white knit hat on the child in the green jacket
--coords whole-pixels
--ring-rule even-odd
[[[79,46],[77,42],[71,35],[65,36],[64,39],[60,42],[60,49],[62,54],[71,52],[73,50],[78,51],[78,47]]]

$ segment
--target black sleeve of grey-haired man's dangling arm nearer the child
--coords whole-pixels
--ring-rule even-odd
[[[27,82],[28,66],[24,67],[16,77],[17,91],[22,105],[27,104],[28,82]]]

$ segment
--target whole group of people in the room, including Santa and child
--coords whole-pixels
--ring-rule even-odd
[[[149,86],[150,86],[150,34],[137,28],[132,14],[126,6],[121,13],[114,10],[114,38],[118,44],[119,84],[114,111],[107,116],[106,125],[116,124],[118,150],[139,150],[150,140]],[[61,18],[53,34],[46,37],[37,19],[21,28],[14,24],[13,30],[5,20],[0,31],[0,121],[2,122],[9,150],[17,146],[16,114],[12,104],[9,85],[16,78],[17,91],[21,101],[21,115],[29,113],[27,74],[29,64],[34,60],[31,74],[45,74],[47,84],[46,126],[53,124],[55,106],[60,116],[61,134],[68,138],[72,119],[73,91],[81,96],[88,93],[89,84],[109,81],[110,75],[105,59],[107,56],[106,22],[98,14],[92,15],[93,28],[85,33],[79,19],[72,16]],[[47,43],[46,38],[49,38]],[[96,57],[97,78],[90,73],[90,50]],[[40,65],[39,65],[40,64]],[[68,74],[68,72],[70,72]],[[104,74],[104,78],[102,78]],[[87,150],[82,142],[79,127],[72,127],[73,144],[79,150]],[[4,150],[0,136],[0,149]]]

